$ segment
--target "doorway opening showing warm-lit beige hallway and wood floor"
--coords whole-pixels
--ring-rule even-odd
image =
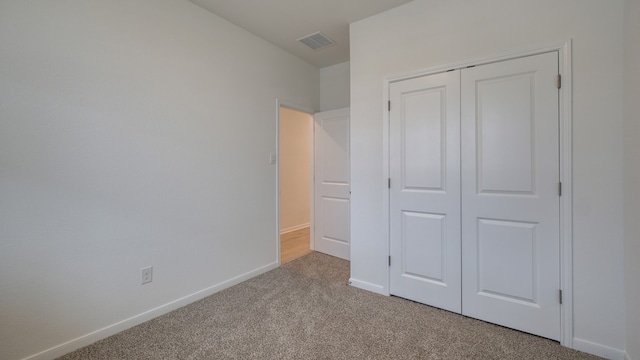
[[[311,252],[313,117],[279,106],[280,264]]]

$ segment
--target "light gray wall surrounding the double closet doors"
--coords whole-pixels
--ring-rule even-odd
[[[573,343],[621,357],[622,38],[622,0],[416,0],[352,24],[352,279],[388,286],[383,79],[573,39]]]

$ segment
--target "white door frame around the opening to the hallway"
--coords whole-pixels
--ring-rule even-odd
[[[278,266],[282,265],[281,263],[281,259],[280,259],[280,107],[285,107],[291,110],[296,110],[296,111],[300,111],[306,114],[309,114],[309,116],[311,117],[311,133],[309,134],[311,137],[311,141],[310,141],[310,145],[311,145],[311,156],[309,159],[309,164],[311,166],[311,184],[309,186],[309,191],[310,191],[310,209],[309,209],[309,227],[310,227],[310,231],[309,231],[309,246],[311,247],[311,250],[314,250],[314,236],[313,236],[313,229],[315,228],[315,216],[314,216],[314,207],[315,207],[315,203],[314,203],[314,194],[315,194],[315,153],[314,153],[314,149],[315,149],[315,138],[314,138],[314,131],[315,131],[315,120],[313,117],[313,114],[315,114],[315,111],[307,108],[305,106],[301,106],[298,104],[295,104],[293,102],[287,101],[287,100],[283,100],[283,99],[278,99],[276,98],[276,258],[278,260]]]

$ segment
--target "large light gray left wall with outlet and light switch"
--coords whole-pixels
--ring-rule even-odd
[[[0,2],[0,358],[276,266],[276,98],[319,88],[188,1]]]

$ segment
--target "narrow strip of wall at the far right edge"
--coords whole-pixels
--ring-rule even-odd
[[[624,262],[627,356],[640,360],[640,0],[625,0]]]

